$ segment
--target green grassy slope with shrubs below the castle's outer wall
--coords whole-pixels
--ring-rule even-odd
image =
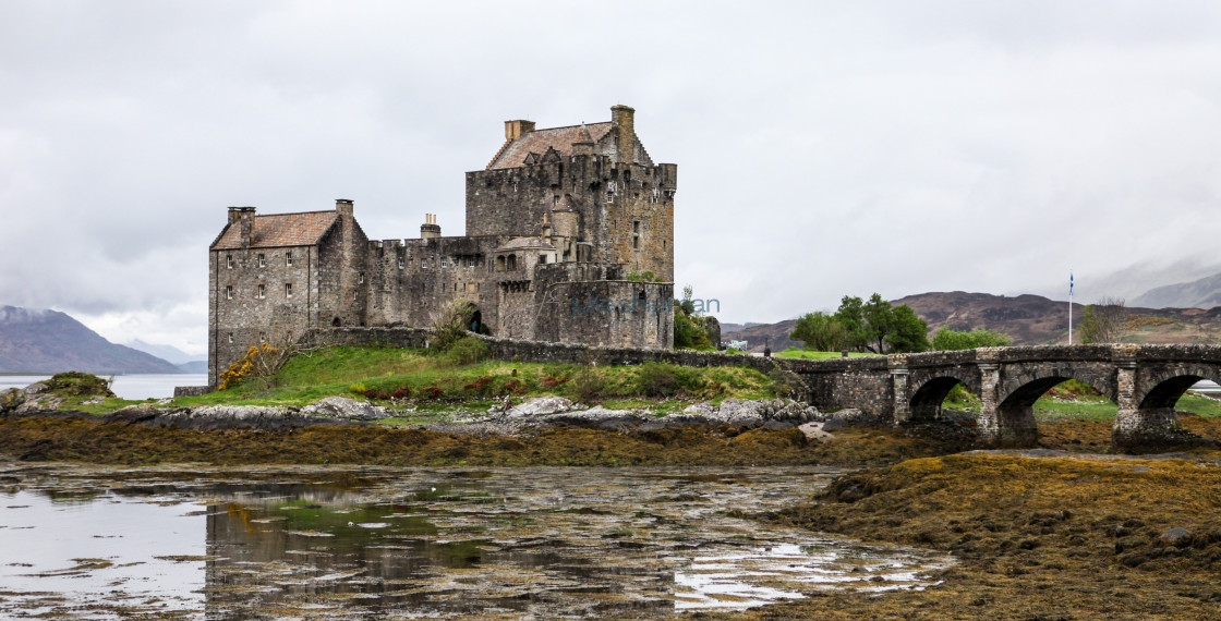
[[[505,398],[540,395],[668,412],[692,401],[767,399],[775,392],[772,379],[747,367],[590,367],[503,360],[455,365],[426,350],[337,346],[293,357],[275,377],[175,399],[175,405],[308,405],[333,395],[409,405],[426,416],[455,404],[486,410]]]

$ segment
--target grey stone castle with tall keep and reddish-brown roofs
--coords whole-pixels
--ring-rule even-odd
[[[672,349],[678,167],[653,163],[635,111],[536,129],[466,173],[466,234],[426,215],[418,239],[370,240],[353,201],[259,215],[228,207],[209,249],[208,381],[260,342],[321,327],[429,327],[454,299],[492,336]]]

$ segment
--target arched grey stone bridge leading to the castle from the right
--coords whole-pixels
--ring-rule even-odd
[[[1066,379],[1087,383],[1118,405],[1117,448],[1181,437],[1175,403],[1195,382],[1221,383],[1221,346],[1042,345],[979,348],[888,356],[785,361],[805,377],[814,405],[857,407],[896,423],[939,417],[950,389],[980,398],[980,438],[994,445],[1034,444],[1032,406]]]

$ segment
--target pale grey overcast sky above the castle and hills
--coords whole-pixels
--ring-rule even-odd
[[[0,0],[0,305],[203,353],[227,206],[462,234],[503,121],[615,104],[722,321],[1221,264],[1215,0]]]

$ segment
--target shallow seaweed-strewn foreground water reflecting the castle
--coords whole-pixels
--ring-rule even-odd
[[[833,473],[0,464],[0,616],[656,617],[950,562],[725,515]]]

